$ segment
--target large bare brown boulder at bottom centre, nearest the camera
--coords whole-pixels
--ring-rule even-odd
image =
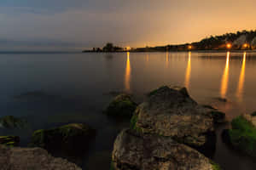
[[[113,170],[218,170],[207,157],[171,138],[122,131],[113,146]]]

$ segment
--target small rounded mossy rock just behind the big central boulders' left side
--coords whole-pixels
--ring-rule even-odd
[[[120,94],[115,97],[104,111],[108,116],[131,117],[137,104],[128,94]]]

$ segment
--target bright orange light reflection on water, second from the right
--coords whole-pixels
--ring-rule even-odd
[[[226,97],[229,85],[229,70],[230,70],[230,52],[227,53],[226,65],[220,86],[220,95],[222,98]]]

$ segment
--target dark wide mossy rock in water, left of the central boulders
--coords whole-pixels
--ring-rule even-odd
[[[61,150],[79,153],[96,134],[96,130],[82,123],[68,124],[49,130],[38,130],[32,134],[32,146],[46,150]]]

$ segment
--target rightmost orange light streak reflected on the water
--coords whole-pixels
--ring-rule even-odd
[[[236,91],[236,97],[238,98],[239,101],[242,100],[242,93],[243,93],[244,79],[245,79],[246,58],[247,58],[247,53],[244,52],[242,64],[241,64],[239,82],[238,82],[237,91]]]

